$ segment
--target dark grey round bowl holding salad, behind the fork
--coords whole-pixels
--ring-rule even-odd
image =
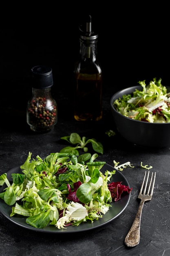
[[[116,92],[110,99],[113,119],[119,134],[132,144],[147,147],[163,148],[170,146],[170,123],[149,123],[133,120],[120,114],[113,106],[116,99],[122,98],[124,94],[131,94],[142,90],[141,85],[125,88]],[[167,87],[167,91],[170,88]]]

